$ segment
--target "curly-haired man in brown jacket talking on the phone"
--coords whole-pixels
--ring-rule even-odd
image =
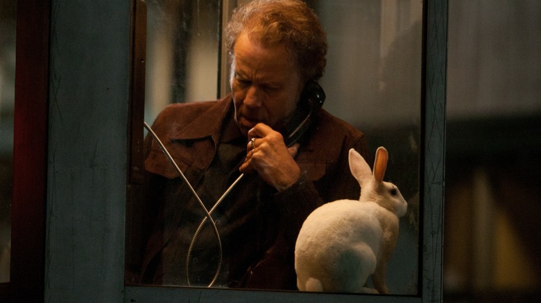
[[[141,282],[295,289],[300,227],[323,203],[359,198],[347,153],[354,148],[366,157],[366,139],[321,109],[295,144],[284,143],[286,125],[306,114],[304,87],[326,64],[325,33],[304,2],[252,1],[234,12],[225,36],[232,93],[170,105],[153,130],[207,210],[244,176],[212,213],[220,242],[209,222],[196,232],[205,210],[146,139],[146,201],[156,226]]]

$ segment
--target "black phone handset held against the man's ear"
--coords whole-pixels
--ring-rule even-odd
[[[310,127],[311,122],[314,120],[316,113],[323,106],[325,101],[325,91],[314,80],[309,80],[304,85],[302,93],[300,93],[300,99],[297,104],[295,113],[289,120],[282,136],[284,136],[284,143],[287,147],[293,145]]]

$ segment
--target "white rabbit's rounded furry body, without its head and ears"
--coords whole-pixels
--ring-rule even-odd
[[[304,221],[295,247],[298,285],[318,280],[320,291],[358,291],[377,264],[379,205],[339,200],[322,205]]]

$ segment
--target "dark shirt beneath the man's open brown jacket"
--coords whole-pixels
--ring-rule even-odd
[[[201,180],[194,185],[198,196],[205,204],[207,210],[211,210],[214,203],[220,199],[227,188],[240,175],[239,166],[246,156],[246,138],[244,138],[237,125],[234,123],[232,114],[226,119],[225,127],[216,149],[216,156],[212,160]],[[245,175],[241,181],[227,194],[220,205],[212,212],[223,246],[223,260],[219,263],[218,240],[209,221],[198,233],[194,241],[195,233],[201,221],[206,217],[195,196],[187,201],[180,224],[175,229],[175,234],[162,250],[164,264],[172,264],[162,269],[162,284],[207,286],[212,281],[216,269],[221,266],[220,274],[214,286],[235,286],[239,284],[243,273],[234,273],[234,268],[239,268],[246,263],[245,253],[241,251],[243,246],[257,245],[261,223],[257,205],[257,176]],[[250,228],[248,228],[250,227]],[[187,252],[191,242],[194,246],[189,257],[189,267],[186,267]],[[250,264],[243,264],[247,268]],[[189,275],[187,275],[189,268]]]

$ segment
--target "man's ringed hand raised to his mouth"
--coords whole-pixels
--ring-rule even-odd
[[[248,131],[246,148],[246,159],[240,167],[242,173],[256,171],[279,192],[297,182],[300,167],[293,158],[298,152],[298,143],[286,147],[282,134],[259,123]]]

